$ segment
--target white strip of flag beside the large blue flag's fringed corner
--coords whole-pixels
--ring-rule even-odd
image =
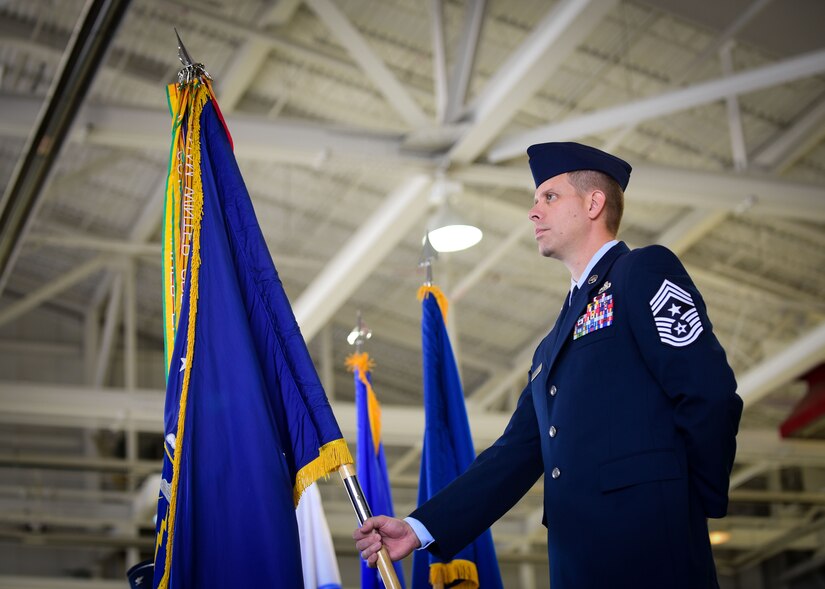
[[[295,515],[301,537],[304,588],[341,589],[341,573],[317,483],[304,490]]]

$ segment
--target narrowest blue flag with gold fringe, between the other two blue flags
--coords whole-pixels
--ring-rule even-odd
[[[367,353],[352,354],[347,358],[347,368],[355,376],[355,420],[358,432],[355,467],[358,481],[373,515],[394,517],[387,461],[381,443],[381,406],[372,389],[370,377],[373,362]],[[393,566],[398,581],[405,587],[401,563],[393,563]],[[369,568],[361,560],[361,589],[378,589],[383,586],[378,569]]]

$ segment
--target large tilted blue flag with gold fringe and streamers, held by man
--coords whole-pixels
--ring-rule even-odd
[[[303,586],[295,505],[352,462],[206,80],[169,89],[154,587]]]

